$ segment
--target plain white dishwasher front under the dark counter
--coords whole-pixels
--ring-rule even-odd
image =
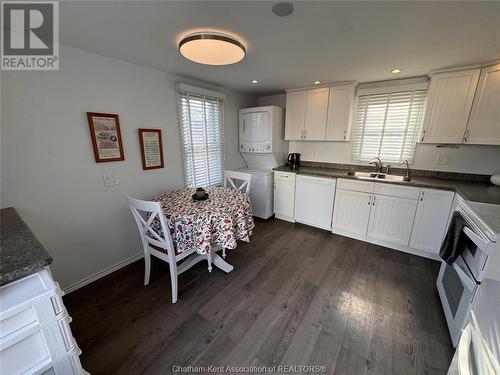
[[[330,230],[335,179],[298,175],[295,185],[295,221]]]

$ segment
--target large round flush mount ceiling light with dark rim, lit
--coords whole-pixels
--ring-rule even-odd
[[[245,58],[245,46],[237,39],[212,32],[188,35],[179,42],[186,59],[206,65],[235,64]]]

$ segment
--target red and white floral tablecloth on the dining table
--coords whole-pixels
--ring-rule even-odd
[[[206,189],[208,199],[195,201],[195,189],[161,194],[160,202],[176,251],[196,248],[211,253],[214,246],[236,248],[236,241],[250,242],[255,226],[250,199],[245,193],[224,187]]]

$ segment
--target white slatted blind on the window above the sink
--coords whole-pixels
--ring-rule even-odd
[[[352,138],[353,160],[413,161],[427,90],[377,93],[358,98]]]

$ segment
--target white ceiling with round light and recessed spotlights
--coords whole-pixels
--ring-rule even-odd
[[[359,82],[500,58],[500,2],[292,1],[61,2],[63,44],[256,94],[314,80]],[[194,30],[239,36],[247,57],[230,66],[185,60],[179,38]],[[259,80],[258,85],[250,80]]]

